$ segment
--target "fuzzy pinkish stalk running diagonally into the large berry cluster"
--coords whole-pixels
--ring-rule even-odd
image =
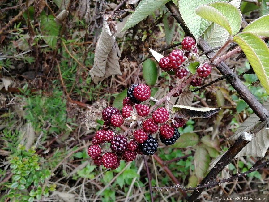
[[[190,76],[188,79],[184,80],[183,82],[181,82],[181,84],[179,84],[176,88],[174,88],[171,92],[167,93],[162,99],[156,101],[156,103],[149,109],[149,113],[153,112],[157,106],[159,106],[160,104],[166,102],[168,100],[168,98],[170,98],[171,96],[173,96],[173,94],[175,94],[176,92],[178,92],[179,90],[181,90],[184,86],[186,86],[187,84],[189,84],[192,80],[196,79],[198,77],[197,73],[195,73],[195,75]],[[130,131],[132,131],[132,129],[134,127],[136,127],[138,125],[138,122],[135,122],[132,126],[130,126],[124,133],[123,135],[126,136]]]

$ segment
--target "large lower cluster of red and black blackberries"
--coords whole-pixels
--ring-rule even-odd
[[[159,144],[152,134],[158,130],[160,140],[165,145],[178,138],[174,130],[181,121],[176,117],[169,120],[166,108],[159,107],[152,117],[148,117],[149,107],[140,103],[149,99],[150,93],[146,84],[132,84],[127,90],[127,97],[123,99],[122,112],[115,107],[107,107],[102,111],[103,129],[96,132],[92,145],[88,147],[88,155],[96,165],[116,169],[121,159],[128,162],[135,160],[137,154],[154,154]],[[115,127],[121,127],[124,121],[139,122],[139,128],[133,131],[132,136],[117,134]],[[109,151],[102,151],[103,144],[109,145]]]

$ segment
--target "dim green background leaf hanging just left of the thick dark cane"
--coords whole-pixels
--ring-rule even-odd
[[[172,22],[171,22],[172,20]],[[174,31],[176,27],[176,21],[174,20],[173,16],[166,14],[163,19],[164,23],[164,33],[165,33],[165,42],[169,45],[174,37]]]

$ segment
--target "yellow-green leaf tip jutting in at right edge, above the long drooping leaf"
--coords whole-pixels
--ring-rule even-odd
[[[242,32],[251,32],[254,34],[269,37],[269,14],[255,19]]]

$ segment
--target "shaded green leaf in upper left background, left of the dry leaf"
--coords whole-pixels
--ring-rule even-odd
[[[41,15],[40,30],[46,43],[51,48],[55,48],[60,31],[60,25],[56,23],[53,15]]]

